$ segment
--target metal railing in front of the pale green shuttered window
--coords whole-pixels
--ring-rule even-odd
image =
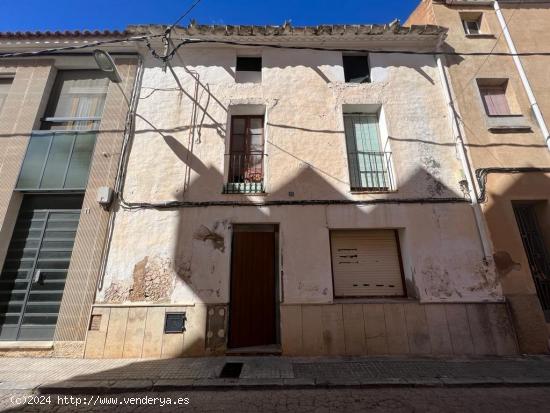
[[[348,152],[352,191],[391,191],[391,152]]]

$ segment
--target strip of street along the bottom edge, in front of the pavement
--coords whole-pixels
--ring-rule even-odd
[[[59,405],[58,396],[51,404],[17,406],[10,402],[28,392],[1,391],[0,411],[3,412],[100,412],[112,411],[112,405],[100,406],[110,400],[118,403],[117,412],[547,412],[550,388],[380,388],[380,389],[312,389],[312,390],[250,390],[250,391],[191,391],[167,393],[120,393],[97,396],[96,406]],[[63,397],[63,396],[61,396]],[[70,397],[70,396],[68,396]],[[70,402],[67,397],[66,403]],[[73,402],[90,395],[73,395]],[[96,396],[93,396],[96,397]],[[154,405],[124,405],[124,398],[159,398]],[[116,398],[116,399],[115,399]],[[178,400],[189,404],[161,407],[162,403]],[[137,401],[136,401],[137,403]]]

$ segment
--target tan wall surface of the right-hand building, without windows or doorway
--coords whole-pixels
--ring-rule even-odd
[[[529,4],[532,3],[532,4]],[[520,52],[542,51],[550,40],[550,5],[545,2],[499,2],[508,30]],[[464,32],[460,13],[480,15],[483,36],[469,37]],[[475,1],[446,5],[425,0],[409,19],[410,23],[433,23],[449,28],[446,47],[462,52],[508,53],[509,49],[492,4]],[[529,22],[529,24],[525,24]],[[545,56],[523,56],[521,63],[546,122],[550,119],[550,86],[544,67]],[[473,169],[550,166],[545,136],[541,133],[519,72],[511,56],[452,56],[447,58],[454,101],[464,125],[464,140]],[[489,118],[479,93],[477,79],[507,80],[506,96],[510,111],[530,130],[489,130]],[[547,352],[549,336],[525,254],[512,201],[540,202],[548,205],[548,174],[517,173],[489,176],[488,200],[483,210],[494,245],[494,261],[503,294],[516,323],[520,350]],[[542,228],[546,243],[550,227]],[[492,284],[489,276],[479,288]]]

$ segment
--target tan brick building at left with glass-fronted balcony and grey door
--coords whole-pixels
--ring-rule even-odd
[[[127,36],[0,33],[0,50]],[[110,48],[126,93],[138,62],[132,47]],[[78,356],[84,350],[109,219],[97,189],[114,184],[128,112],[91,52],[0,59],[1,352]]]

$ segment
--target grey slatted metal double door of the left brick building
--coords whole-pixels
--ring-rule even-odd
[[[23,199],[0,273],[0,340],[53,338],[81,207],[81,195]]]

